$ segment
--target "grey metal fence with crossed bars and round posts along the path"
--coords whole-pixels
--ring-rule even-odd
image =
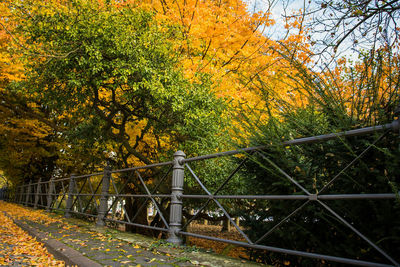
[[[145,228],[163,232],[168,235],[167,241],[174,244],[181,244],[182,237],[204,238],[213,241],[221,241],[237,246],[266,250],[275,253],[284,253],[288,255],[309,257],[318,260],[332,261],[341,264],[352,264],[361,266],[399,266],[399,263],[375,242],[361,233],[356,227],[343,216],[335,212],[328,204],[327,200],[355,200],[355,199],[396,199],[398,193],[392,192],[377,192],[364,194],[327,194],[326,189],[333,184],[346,170],[359,161],[369,150],[375,147],[390,131],[399,133],[399,120],[392,123],[368,128],[350,130],[341,133],[332,133],[314,137],[294,139],[283,142],[284,146],[295,146],[311,144],[316,142],[328,141],[337,138],[346,138],[351,136],[367,135],[372,133],[382,133],[374,142],[368,145],[361,153],[356,155],[354,160],[349,162],[342,170],[337,172],[337,175],[332,177],[330,181],[318,190],[318,194],[313,194],[305,187],[291,177],[287,172],[270,161],[261,152],[268,146],[250,147],[239,150],[227,151],[211,155],[204,155],[192,158],[185,158],[182,151],[174,154],[172,161],[151,164],[146,166],[112,170],[110,165],[104,168],[103,172],[93,173],[88,175],[71,175],[68,178],[51,179],[50,181],[30,182],[18,186],[13,195],[9,195],[9,199],[20,204],[33,206],[34,208],[43,208],[47,211],[60,210],[64,212],[65,217],[70,217],[72,214],[86,216],[96,221],[97,225],[106,225],[108,223],[117,223],[132,227]],[[207,188],[204,181],[196,174],[194,168],[191,167],[195,162],[207,161],[221,157],[235,156],[241,154],[241,162],[238,166],[227,175],[226,179],[216,188],[211,190]],[[269,161],[279,173],[297,187],[303,194],[292,195],[221,195],[222,189],[238,173],[241,167],[253,155],[259,155]],[[156,185],[148,183],[146,175],[157,174]],[[171,175],[172,174],[172,175]],[[197,185],[204,191],[203,194],[189,195],[184,194],[185,175],[190,175]],[[189,177],[189,176],[186,176]],[[187,178],[186,178],[187,179]],[[142,191],[139,190],[141,188]],[[131,192],[136,192],[132,194]],[[127,204],[132,199],[140,199],[141,205],[136,206],[135,212],[129,210]],[[183,221],[184,201],[189,199],[203,199],[205,203],[196,208],[196,212]],[[241,229],[237,221],[235,221],[229,212],[221,204],[222,199],[248,199],[248,200],[303,200],[304,203],[296,210],[288,214],[279,222],[274,222],[275,225],[258,240],[251,240],[245,231]],[[138,217],[143,216],[145,210],[150,205],[155,208],[157,220],[153,218],[151,223],[138,221]],[[165,204],[167,203],[167,205]],[[260,244],[272,232],[276,231],[282,224],[287,222],[292,216],[301,212],[301,210],[310,203],[317,203],[321,209],[330,213],[343,226],[350,229],[354,235],[365,241],[371,248],[376,250],[387,263],[369,262],[359,260],[357,258],[346,258],[331,255],[323,255],[308,251],[298,251],[274,246]],[[238,233],[240,233],[243,241],[222,239],[218,237],[208,236],[190,232],[188,226],[195,220],[202,211],[207,209],[207,206],[213,204],[218,207],[218,210],[227,218]],[[168,217],[169,215],[169,217]],[[260,221],[265,223],[265,221]]]

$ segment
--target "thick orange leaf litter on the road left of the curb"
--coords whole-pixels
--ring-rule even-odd
[[[19,228],[6,214],[15,205],[0,201],[0,265],[1,266],[64,266],[44,245]]]

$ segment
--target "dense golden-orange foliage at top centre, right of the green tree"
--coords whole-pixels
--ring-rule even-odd
[[[136,4],[151,6],[159,21],[180,26],[176,49],[186,77],[197,79],[199,73],[207,73],[221,97],[238,102],[258,98],[250,94],[244,99],[241,80],[271,62],[265,50],[272,42],[263,35],[274,23],[268,12],[250,14],[241,0],[145,2]]]

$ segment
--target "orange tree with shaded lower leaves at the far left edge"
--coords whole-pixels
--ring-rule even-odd
[[[24,62],[16,53],[16,21],[6,2],[0,3],[0,169],[17,185],[50,178],[57,159],[54,131],[43,110],[12,87],[24,79]]]

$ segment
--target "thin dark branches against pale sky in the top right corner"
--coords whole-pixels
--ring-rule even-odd
[[[314,6],[309,11],[310,35],[323,36],[322,48],[336,51],[352,43],[359,52],[399,45],[398,1],[317,1]]]

